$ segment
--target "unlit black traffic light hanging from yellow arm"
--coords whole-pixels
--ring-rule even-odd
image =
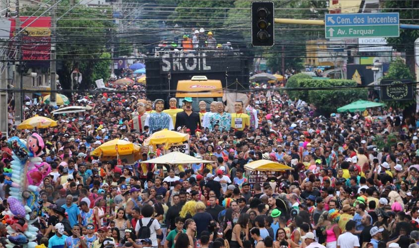
[[[274,2],[252,2],[252,45],[272,47],[275,42]]]

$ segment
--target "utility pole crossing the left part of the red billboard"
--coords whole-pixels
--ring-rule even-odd
[[[20,31],[20,13],[19,13],[19,0],[16,0],[16,10],[17,10],[17,16],[15,18],[15,33],[17,34]],[[21,61],[22,57],[20,54],[20,45],[19,45],[19,41],[20,41],[20,36],[21,34],[16,35],[15,40],[17,41],[17,44],[15,46],[16,51],[14,54],[14,59],[16,60],[16,64],[14,67],[14,85],[15,85],[15,89],[16,91],[14,92],[14,120],[15,120],[15,124],[18,125],[23,121],[23,93],[22,91],[22,66],[23,63]]]

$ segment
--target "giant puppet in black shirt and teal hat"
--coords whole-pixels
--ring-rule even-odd
[[[175,128],[185,125],[190,129],[190,135],[194,135],[196,128],[201,128],[201,120],[199,118],[199,114],[192,111],[193,101],[191,97],[185,97],[182,102],[184,111],[179,112],[176,115]]]

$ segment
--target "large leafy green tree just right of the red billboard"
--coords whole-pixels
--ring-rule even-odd
[[[110,50],[105,44],[111,40],[110,30],[114,27],[112,10],[80,6],[66,13],[68,7],[65,6],[69,6],[68,0],[61,1],[57,8],[57,17],[65,17],[57,21],[57,37],[66,41],[57,44],[57,59],[62,60],[61,69],[57,73],[62,87],[68,89],[71,86],[71,71],[79,68],[83,74],[80,88],[87,89],[92,81],[101,78],[95,78],[95,75],[104,75],[102,66],[110,64],[109,61],[102,62],[97,58]],[[110,67],[107,69],[110,70]]]

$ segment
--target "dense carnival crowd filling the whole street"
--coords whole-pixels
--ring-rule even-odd
[[[237,102],[233,114],[225,113],[222,103],[204,102],[192,110],[188,99],[183,109],[171,103],[166,114],[165,101],[147,99],[140,84],[108,86],[126,93],[74,94],[71,105],[93,107],[82,113],[52,116],[55,108],[42,101],[25,102],[26,118],[58,122],[35,130],[45,141],[40,157],[52,168],[40,185],[33,223],[40,246],[419,247],[419,129],[401,112],[367,109],[322,117],[283,91],[261,89],[249,94],[247,103]],[[187,118],[193,115],[198,118],[191,130]],[[164,154],[163,145],[144,145],[160,120],[190,134],[191,156],[212,162],[142,163]],[[9,137],[30,133],[16,129],[11,117]],[[141,159],[129,164],[91,155],[115,138],[140,145]],[[1,140],[3,173],[12,152],[6,135]],[[259,172],[262,182],[255,183],[244,165],[261,159],[293,170]],[[0,212],[8,208],[7,182],[0,175]],[[2,246],[6,226],[0,223]]]

